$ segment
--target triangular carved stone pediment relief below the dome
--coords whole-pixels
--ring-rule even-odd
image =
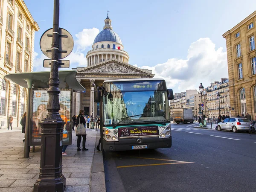
[[[137,68],[137,67],[136,67]],[[119,64],[119,63],[106,63],[99,64],[95,66],[90,66],[87,69],[80,70],[80,73],[132,73],[132,74],[150,74],[149,72],[145,72],[136,69],[135,67],[131,67],[128,64]],[[78,72],[78,73],[79,73]]]

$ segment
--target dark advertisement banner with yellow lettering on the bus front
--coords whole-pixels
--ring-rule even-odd
[[[158,126],[122,127],[118,128],[118,137],[135,137],[159,135]]]

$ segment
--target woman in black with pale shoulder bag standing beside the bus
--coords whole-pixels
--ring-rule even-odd
[[[76,119],[76,136],[77,136],[77,151],[81,151],[80,144],[83,137],[83,151],[87,151],[88,149],[85,148],[85,141],[86,141],[86,130],[84,128],[86,121],[84,119],[84,110],[79,111],[79,116]]]

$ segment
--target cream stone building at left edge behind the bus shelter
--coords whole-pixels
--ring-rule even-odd
[[[27,90],[4,79],[8,73],[33,71],[35,32],[39,30],[23,0],[0,0],[0,122],[6,128],[20,126],[26,109]]]

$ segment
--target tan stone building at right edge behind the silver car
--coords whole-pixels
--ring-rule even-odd
[[[222,36],[227,44],[232,116],[256,115],[256,11]]]

